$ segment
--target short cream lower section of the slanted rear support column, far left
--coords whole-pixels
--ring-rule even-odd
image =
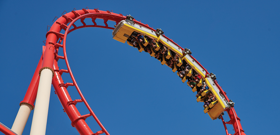
[[[23,129],[27,123],[27,120],[29,118],[30,112],[32,110],[31,105],[22,104],[20,106],[20,109],[17,112],[17,117],[15,117],[15,121],[13,123],[13,126],[11,130],[15,132],[18,135],[21,135],[23,132]]]

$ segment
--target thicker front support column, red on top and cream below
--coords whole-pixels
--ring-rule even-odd
[[[39,71],[40,80],[36,96],[36,108],[32,118],[30,135],[46,134],[48,108],[50,103],[50,90],[54,76],[53,62],[55,59],[54,43],[57,42],[55,34],[48,34],[46,48],[43,56],[42,68]]]

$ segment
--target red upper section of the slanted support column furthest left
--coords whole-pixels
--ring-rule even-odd
[[[39,85],[39,80],[40,80],[40,76],[39,76],[39,71],[42,67],[42,62],[43,62],[43,55],[41,55],[41,58],[38,62],[38,65],[36,67],[36,70],[34,72],[34,75],[31,79],[31,82],[28,86],[28,89],[25,93],[25,96],[23,98],[23,100],[20,102],[21,104],[29,104],[32,106],[32,110],[34,109],[34,102],[37,96],[37,91],[38,91],[38,85]]]

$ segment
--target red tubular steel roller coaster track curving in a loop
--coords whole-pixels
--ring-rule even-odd
[[[85,18],[91,18],[94,25],[86,25],[85,22],[84,22]],[[79,20],[79,19],[80,19],[81,23],[83,24],[83,26],[78,26],[77,27],[74,24],[74,22]],[[103,19],[105,26],[97,25],[95,23],[95,19]],[[59,98],[59,100],[62,104],[62,107],[64,108],[64,111],[66,112],[69,119],[71,120],[71,125],[77,129],[79,134],[98,135],[98,134],[105,133],[106,135],[109,135],[107,130],[104,128],[104,126],[98,120],[97,116],[95,116],[94,112],[92,111],[92,109],[88,105],[88,102],[85,100],[80,88],[77,85],[77,82],[74,78],[74,75],[73,75],[73,73],[70,69],[69,62],[68,62],[68,59],[67,59],[67,54],[66,54],[67,34],[76,30],[76,29],[85,28],[85,27],[99,27],[99,28],[106,28],[106,29],[114,29],[112,27],[108,27],[108,24],[106,22],[107,21],[114,21],[114,22],[116,22],[116,24],[118,24],[118,22],[120,22],[122,20],[125,20],[125,19],[126,19],[126,17],[123,16],[122,14],[116,14],[116,13],[110,12],[108,10],[107,11],[101,11],[101,10],[97,10],[97,9],[94,9],[94,10],[83,9],[83,10],[75,10],[75,11],[73,10],[72,12],[69,12],[65,15],[62,15],[62,17],[58,18],[46,34],[46,37],[47,37],[46,46],[50,45],[50,46],[55,47],[55,53],[54,53],[55,57],[54,57],[54,64],[53,64],[53,69],[55,71],[55,77],[53,78],[53,81],[52,81],[53,87],[55,88],[55,92],[56,92],[56,94],[57,94],[57,96],[58,96],[58,98]],[[143,24],[139,21],[136,21],[135,19],[134,19],[134,22],[136,24],[139,24],[141,26],[144,26],[146,28],[154,30],[153,28],[149,27],[148,25]],[[70,24],[67,26],[68,23],[70,23]],[[70,29],[71,26],[73,26],[74,28]],[[60,33],[60,31],[62,29],[65,30],[64,34]],[[156,31],[156,30],[154,30],[154,31]],[[163,36],[165,38],[167,38],[169,41],[173,42],[171,39],[169,39],[165,35],[163,35]],[[63,40],[63,44],[61,44],[62,40]],[[176,44],[175,42],[173,42],[173,43]],[[59,47],[63,48],[64,56],[57,55]],[[178,46],[178,47],[180,47],[180,46]],[[182,47],[180,47],[180,48],[183,50]],[[47,48],[46,48],[46,50],[47,50]],[[45,58],[45,59],[48,59],[48,58]],[[59,67],[57,65],[57,61],[59,59],[64,59],[65,60],[66,65],[67,65],[67,70],[66,69],[59,69]],[[207,70],[195,58],[193,58],[193,59],[204,69],[204,71],[206,71],[207,74],[209,74],[209,72],[207,72]],[[63,80],[62,80],[62,77],[61,77],[62,73],[69,73],[73,83],[71,83],[71,82],[70,83],[69,82],[64,83]],[[214,82],[215,82],[216,86],[218,86],[220,91],[222,92],[223,96],[225,96],[226,100],[229,100],[228,97],[226,96],[226,93],[219,86],[217,81],[215,80]],[[67,91],[68,86],[75,86],[79,95],[81,96],[81,99],[72,100],[70,98],[70,95],[69,95],[68,91]],[[76,104],[78,102],[84,102],[86,107],[90,111],[90,114],[81,115],[79,113],[78,109],[76,108]],[[227,113],[230,117],[229,122],[225,122],[222,118],[222,122],[224,124],[226,134],[230,135],[227,132],[227,127],[226,127],[225,124],[231,124],[231,125],[233,125],[234,131],[235,131],[234,135],[245,135],[245,133],[244,133],[242,127],[241,127],[241,124],[240,124],[240,118],[237,117],[237,114],[236,114],[234,108],[232,107],[231,109],[227,109],[226,111],[227,111]],[[102,130],[100,130],[96,133],[92,132],[90,127],[88,127],[87,123],[85,122],[85,119],[89,116],[94,117],[94,119],[96,120],[96,122],[98,123],[98,125],[101,127]]]

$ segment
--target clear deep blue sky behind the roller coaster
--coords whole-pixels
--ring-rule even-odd
[[[279,1],[0,1],[1,123],[13,125],[41,56],[47,26],[64,10],[87,6],[130,14],[161,28],[216,74],[235,102],[247,135],[279,133],[280,110],[273,96],[280,94],[274,89],[280,75]],[[204,114],[203,104],[176,73],[148,53],[112,39],[111,33],[83,28],[70,33],[66,44],[78,86],[110,134],[197,134],[209,128],[225,134],[221,120]],[[65,69],[65,62],[59,60],[59,66]],[[69,75],[62,77],[71,82]],[[51,91],[46,134],[78,134],[53,87]],[[79,99],[74,87],[68,91],[73,100]],[[88,114],[82,103],[77,108]],[[33,111],[24,135],[30,132],[32,116]],[[86,122],[93,132],[101,130],[92,117]],[[231,125],[227,128],[234,133]]]

